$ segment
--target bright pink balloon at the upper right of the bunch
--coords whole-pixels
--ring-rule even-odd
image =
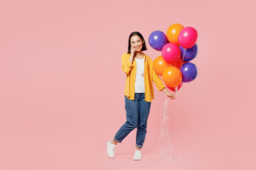
[[[198,33],[195,28],[186,27],[178,34],[178,42],[183,48],[191,48],[196,45],[198,40]]]

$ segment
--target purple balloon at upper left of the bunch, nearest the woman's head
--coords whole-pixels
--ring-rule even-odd
[[[160,30],[155,30],[149,35],[149,45],[154,50],[161,51],[162,47],[168,42],[166,35]]]

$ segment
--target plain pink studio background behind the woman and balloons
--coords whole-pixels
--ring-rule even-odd
[[[255,169],[255,1],[0,1],[0,169]],[[161,159],[154,86],[142,160],[126,120],[121,55],[129,33],[198,30],[198,77],[169,101],[180,162]]]

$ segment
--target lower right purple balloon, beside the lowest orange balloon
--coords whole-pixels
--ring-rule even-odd
[[[196,79],[198,75],[198,68],[195,64],[191,62],[186,62],[181,66],[181,74],[182,74],[182,81],[183,82],[190,82],[193,79]]]

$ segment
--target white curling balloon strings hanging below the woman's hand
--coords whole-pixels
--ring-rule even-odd
[[[164,102],[164,106],[161,110],[162,114],[159,116],[161,128],[160,128],[160,138],[159,138],[159,149],[160,149],[160,156],[166,162],[174,162],[174,149],[171,147],[169,132],[168,132],[168,123],[169,123],[169,116],[167,114],[167,103],[170,98],[167,98]]]

